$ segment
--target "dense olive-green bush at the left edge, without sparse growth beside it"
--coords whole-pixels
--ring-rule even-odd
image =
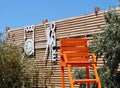
[[[0,88],[20,88],[26,78],[27,61],[15,45],[6,45],[0,38]]]

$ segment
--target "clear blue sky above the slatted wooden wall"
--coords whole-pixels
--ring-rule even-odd
[[[43,18],[49,22],[76,17],[118,7],[118,0],[0,0],[0,32],[41,24]]]

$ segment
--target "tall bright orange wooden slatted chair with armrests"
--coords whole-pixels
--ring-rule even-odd
[[[93,57],[93,61],[89,61],[89,55]],[[60,39],[60,56],[60,66],[62,71],[62,88],[65,88],[64,67],[67,67],[71,88],[74,88],[74,84],[78,83],[87,83],[87,88],[90,88],[90,83],[96,83],[98,85],[98,88],[101,88],[101,83],[96,69],[96,57],[93,53],[88,53],[87,39]],[[86,78],[72,79],[70,68],[73,66],[84,66],[86,68]],[[95,79],[90,78],[89,67],[93,67]]]

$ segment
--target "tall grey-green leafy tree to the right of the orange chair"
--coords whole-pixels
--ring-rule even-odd
[[[104,15],[106,26],[103,32],[96,34],[90,46],[98,57],[104,56],[104,66],[99,71],[102,88],[119,88],[120,74],[120,13],[110,9]],[[117,78],[117,79],[116,79]]]

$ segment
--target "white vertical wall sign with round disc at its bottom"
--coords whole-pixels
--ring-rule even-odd
[[[32,32],[32,38],[27,38],[27,33]],[[29,33],[30,34],[30,33]],[[34,25],[24,27],[24,51],[27,55],[34,55]]]

